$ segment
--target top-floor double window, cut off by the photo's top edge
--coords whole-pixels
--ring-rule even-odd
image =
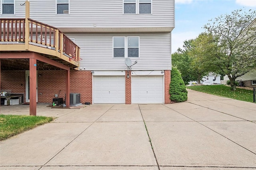
[[[124,14],[151,14],[152,0],[124,0]]]

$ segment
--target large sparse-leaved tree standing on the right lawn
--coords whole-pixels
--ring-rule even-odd
[[[236,90],[236,78],[256,67],[256,11],[235,10],[210,20],[204,28],[215,44],[206,63],[228,75]]]

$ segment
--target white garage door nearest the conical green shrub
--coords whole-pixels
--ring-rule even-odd
[[[163,76],[132,76],[132,103],[164,103]]]

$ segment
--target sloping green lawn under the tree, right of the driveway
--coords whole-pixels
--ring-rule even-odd
[[[253,103],[253,90],[236,88],[236,91],[231,91],[230,87],[226,85],[200,85],[200,86],[187,86],[186,88],[212,94],[212,95],[228,97],[231,99]]]

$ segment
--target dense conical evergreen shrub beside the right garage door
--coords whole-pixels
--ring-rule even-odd
[[[172,68],[171,71],[171,83],[169,93],[171,95],[171,101],[183,102],[188,99],[188,91],[184,81],[176,68]]]

